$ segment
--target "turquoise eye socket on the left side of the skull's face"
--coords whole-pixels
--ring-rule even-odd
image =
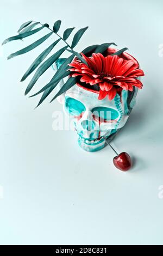
[[[76,99],[73,99],[71,97],[66,97],[65,109],[70,115],[78,116],[85,111],[85,106],[83,105],[82,102]]]

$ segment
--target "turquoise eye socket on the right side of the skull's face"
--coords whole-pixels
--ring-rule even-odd
[[[119,113],[114,108],[95,107],[92,109],[92,114],[95,119],[100,121],[110,121],[118,118]]]

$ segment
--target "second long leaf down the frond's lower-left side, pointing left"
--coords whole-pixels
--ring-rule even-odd
[[[8,59],[11,59],[11,58],[14,58],[15,56],[18,56],[18,55],[21,55],[21,54],[24,54],[26,52],[29,52],[31,50],[33,50],[35,47],[39,46],[42,44],[42,42],[44,42],[47,38],[49,38],[49,36],[51,36],[53,34],[53,32],[51,33],[48,33],[47,35],[43,36],[42,38],[40,38],[39,40],[33,42],[33,44],[23,48],[22,50],[20,51],[17,51],[15,53],[12,53],[9,55]]]

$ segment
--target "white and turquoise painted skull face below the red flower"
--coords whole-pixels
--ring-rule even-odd
[[[99,101],[98,94],[74,86],[68,90],[64,99],[64,110],[74,121],[80,147],[86,151],[97,151],[105,147],[105,138],[111,138],[126,123],[130,109],[135,103],[137,89],[128,95],[115,99]],[[131,99],[132,98],[132,99]]]

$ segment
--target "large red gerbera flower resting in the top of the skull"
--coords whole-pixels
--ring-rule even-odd
[[[80,81],[99,85],[98,99],[102,100],[108,95],[109,100],[114,99],[116,93],[121,94],[122,90],[133,91],[133,86],[142,88],[142,83],[136,78],[144,76],[139,64],[133,60],[123,59],[120,56],[106,56],[101,53],[93,53],[92,57],[86,57],[87,65],[74,59],[70,71],[72,77],[81,76]]]

